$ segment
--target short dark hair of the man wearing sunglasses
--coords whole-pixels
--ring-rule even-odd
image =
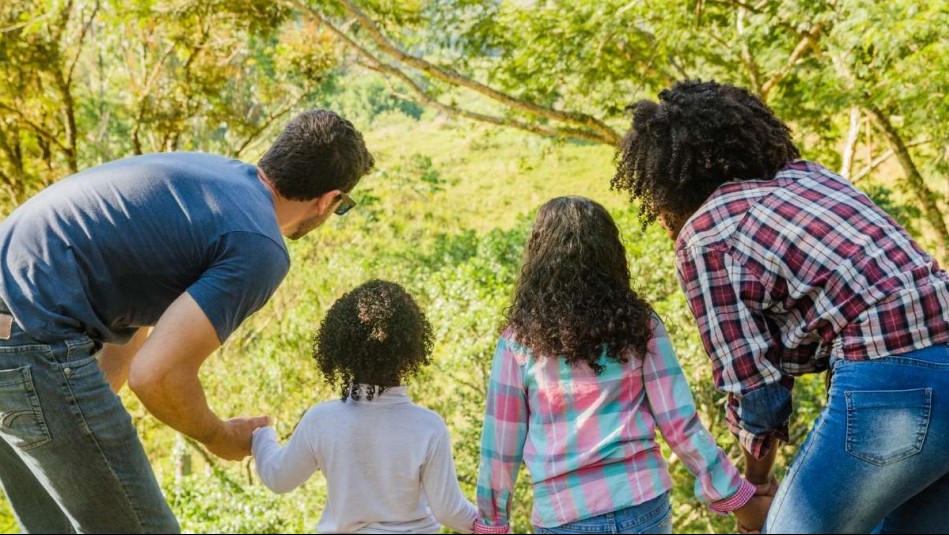
[[[307,201],[328,191],[351,191],[375,160],[352,123],[314,110],[294,117],[258,165],[277,193]]]

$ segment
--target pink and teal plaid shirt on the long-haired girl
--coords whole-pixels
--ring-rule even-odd
[[[488,386],[476,530],[508,524],[521,461],[534,490],[532,521],[556,527],[631,507],[672,487],[656,428],[695,475],[695,495],[719,512],[754,493],[699,420],[692,392],[658,318],[645,358],[605,370],[538,358],[510,330]]]

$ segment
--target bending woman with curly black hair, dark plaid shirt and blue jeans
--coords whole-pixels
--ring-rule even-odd
[[[747,90],[682,82],[629,109],[612,185],[675,240],[745,477],[769,493],[794,377],[832,370],[767,531],[949,530],[949,275],[850,182],[801,160]]]

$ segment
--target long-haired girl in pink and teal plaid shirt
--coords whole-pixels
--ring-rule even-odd
[[[702,425],[662,322],[630,288],[609,213],[560,197],[537,215],[488,387],[476,533],[504,533],[523,459],[538,533],[671,533],[658,426],[714,511],[760,526],[766,498]],[[747,505],[746,505],[747,504]]]

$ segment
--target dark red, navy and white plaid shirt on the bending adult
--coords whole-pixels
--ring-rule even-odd
[[[949,341],[949,276],[850,182],[803,160],[730,182],[676,241],[679,282],[756,457],[787,440],[794,376]]]

